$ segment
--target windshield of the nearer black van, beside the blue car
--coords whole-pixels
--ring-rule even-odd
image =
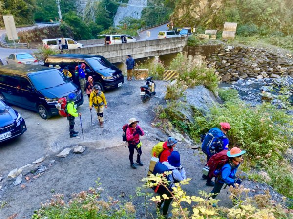
[[[54,88],[62,84],[69,83],[69,79],[59,70],[47,71],[31,75],[30,79],[37,90]]]

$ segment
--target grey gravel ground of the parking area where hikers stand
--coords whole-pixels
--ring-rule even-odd
[[[0,184],[3,186],[0,190],[0,218],[5,219],[13,214],[17,214],[17,219],[30,218],[33,211],[40,207],[40,203],[50,199],[53,194],[64,194],[65,200],[68,200],[70,194],[94,187],[94,181],[97,178],[101,178],[100,182],[105,189],[104,198],[111,196],[118,200],[128,200],[129,195],[134,195],[135,188],[142,185],[141,178],[147,175],[152,146],[159,140],[167,139],[167,135],[160,129],[151,126],[154,108],[159,103],[164,103],[163,98],[167,83],[156,81],[157,95],[146,103],[142,103],[139,97],[139,86],[142,84],[142,81],[126,81],[119,89],[105,92],[108,109],[105,109],[103,129],[97,126],[95,115],[93,115],[95,126],[91,126],[88,101],[85,97],[84,105],[79,108],[79,111],[83,113],[84,140],[82,137],[79,139],[69,138],[68,123],[64,118],[55,117],[48,121],[42,120],[40,125],[37,125],[36,122],[32,123],[30,128],[38,129],[40,132],[39,141],[42,141],[42,144],[47,144],[44,145],[42,155],[47,154],[47,157],[40,168],[39,172],[41,173],[39,175],[37,172],[28,174],[30,180],[27,181],[23,177],[22,183],[18,186],[13,186],[13,181],[6,178],[8,172],[13,169],[12,166],[1,166],[5,169],[1,170],[4,179]],[[33,112],[31,114],[34,118],[38,116]],[[129,152],[125,143],[122,142],[121,128],[130,117],[136,117],[140,120],[139,125],[147,131],[142,137],[142,160],[146,169],[138,166],[136,170],[133,170],[130,167]],[[81,131],[78,120],[76,120],[76,130]],[[29,138],[24,140],[29,141]],[[75,145],[85,146],[86,150],[82,154],[71,153],[66,158],[56,157],[56,154],[63,148]],[[195,195],[198,194],[199,190],[210,192],[212,188],[206,187],[205,181],[201,179],[201,170],[205,160],[203,154],[198,150],[192,150],[183,142],[176,146],[176,150],[181,154],[181,163],[186,168],[187,177],[192,179],[189,185],[184,186],[187,194]],[[11,153],[13,152],[11,151]],[[1,150],[0,154],[3,154]],[[5,152],[5,156],[8,159],[10,153]],[[20,157],[19,160],[18,157]],[[14,157],[10,161],[19,162],[18,167],[28,163],[27,159],[25,162],[22,161],[25,160],[25,154],[20,154],[18,157]],[[35,158],[32,157],[30,162],[34,160]],[[55,161],[53,162],[53,160]],[[10,164],[7,163],[7,165]],[[264,188],[268,188],[273,197],[276,197],[276,201],[280,200],[280,196],[266,185],[251,181],[244,181],[243,184],[245,187],[255,190],[251,195],[262,193]],[[124,198],[120,196],[122,192],[125,193]],[[226,193],[227,189],[222,190],[221,194],[218,195],[217,198],[221,200],[219,205],[231,207],[229,193],[228,195]],[[138,219],[149,218],[143,203],[143,197],[134,201],[137,210],[136,218]],[[153,211],[151,208],[150,212]]]

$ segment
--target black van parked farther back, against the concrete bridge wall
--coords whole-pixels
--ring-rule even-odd
[[[86,78],[92,76],[94,83],[100,85],[102,91],[120,87],[124,83],[122,71],[101,55],[58,54],[45,59],[45,66],[68,66],[73,77],[75,67],[82,63],[86,65]],[[74,81],[78,81],[77,78]]]

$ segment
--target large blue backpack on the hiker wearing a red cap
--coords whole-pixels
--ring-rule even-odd
[[[222,151],[224,138],[227,137],[219,128],[211,128],[205,136],[202,136],[202,151],[209,157]]]

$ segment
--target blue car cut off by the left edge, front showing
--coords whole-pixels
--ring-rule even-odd
[[[21,114],[0,100],[0,142],[22,135],[25,131]]]

